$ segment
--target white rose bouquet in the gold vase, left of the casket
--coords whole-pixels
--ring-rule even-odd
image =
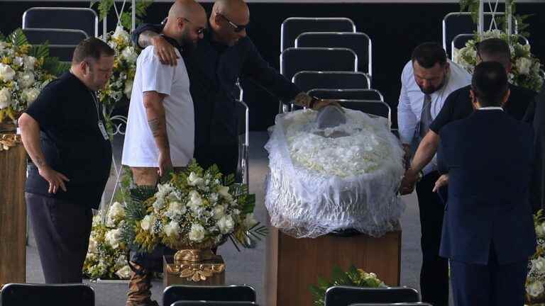
[[[133,197],[134,198],[134,197]],[[128,203],[127,244],[153,251],[165,244],[172,249],[209,249],[228,238],[248,246],[248,239],[260,239],[265,227],[253,218],[255,195],[248,186],[224,177],[216,166],[206,171],[192,161],[185,171],[158,185],[145,200]]]

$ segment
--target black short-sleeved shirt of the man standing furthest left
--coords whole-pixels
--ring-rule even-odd
[[[101,104],[74,74],[67,72],[45,86],[26,113],[40,125],[45,162],[67,176],[67,191],[48,193],[49,183],[29,165],[26,191],[99,207],[111,166],[111,144],[99,130],[104,123]],[[98,101],[98,100],[97,100]]]

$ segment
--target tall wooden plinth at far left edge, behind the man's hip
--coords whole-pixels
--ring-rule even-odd
[[[26,280],[26,151],[0,151],[0,288]]]

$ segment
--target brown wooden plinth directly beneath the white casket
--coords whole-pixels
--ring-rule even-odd
[[[334,266],[349,266],[378,275],[386,285],[400,284],[401,231],[380,238],[326,235],[296,239],[271,227],[266,251],[265,291],[268,306],[312,306],[310,285],[329,278]]]

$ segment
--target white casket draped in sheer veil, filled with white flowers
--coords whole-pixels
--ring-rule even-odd
[[[265,205],[271,224],[293,237],[339,229],[380,237],[397,228],[404,209],[400,142],[385,118],[343,110],[342,123],[326,128],[317,111],[276,117],[265,145]]]

